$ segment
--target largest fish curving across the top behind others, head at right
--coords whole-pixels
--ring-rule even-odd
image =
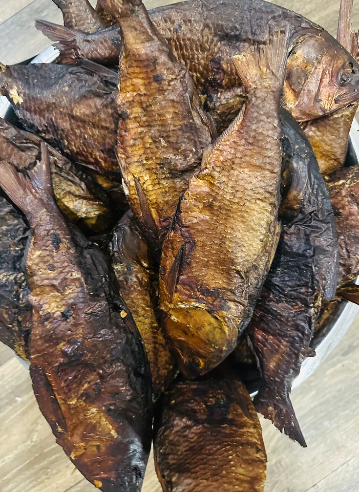
[[[283,103],[291,114],[298,121],[312,120],[359,99],[358,63],[328,32],[283,7],[262,0],[190,0],[158,7],[149,15],[176,60],[191,74],[218,131],[227,128],[244,102],[231,57],[253,43],[266,42],[271,31],[286,26],[293,29],[293,50]],[[56,39],[56,33],[50,37]],[[93,53],[97,57],[97,43],[114,46],[104,55],[108,59],[119,48],[117,38],[116,29],[97,32],[91,43],[79,34],[73,46],[79,58],[87,59]],[[72,48],[66,50],[70,54]]]

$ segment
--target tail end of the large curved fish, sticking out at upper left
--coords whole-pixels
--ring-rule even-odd
[[[118,26],[89,34],[37,19],[35,27],[56,41],[54,46],[60,51],[58,63],[71,65],[79,59],[86,59],[108,66],[119,64],[122,41]]]

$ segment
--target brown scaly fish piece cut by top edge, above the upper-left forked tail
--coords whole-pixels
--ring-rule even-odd
[[[88,0],[52,1],[60,8],[66,27],[85,32],[95,32],[106,27],[105,22]]]

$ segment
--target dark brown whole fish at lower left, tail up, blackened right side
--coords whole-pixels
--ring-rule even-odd
[[[52,199],[41,147],[28,176],[0,162],[0,185],[31,229],[33,389],[57,442],[90,482],[140,492],[151,440],[146,353],[102,253],[70,232]]]

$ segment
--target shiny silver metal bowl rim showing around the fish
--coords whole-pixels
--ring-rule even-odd
[[[51,63],[59,55],[59,51],[53,46],[50,46],[37,57],[31,60],[30,63]],[[14,113],[11,105],[6,97],[0,96],[0,117],[11,121],[14,119]],[[359,123],[354,119],[350,130],[349,148],[347,154],[347,165],[359,164]],[[357,280],[359,284],[359,278]],[[338,303],[330,312],[328,322],[324,325],[319,333],[316,333],[312,339],[311,347],[315,349],[316,356],[308,357],[301,365],[299,376],[296,378],[293,388],[296,388],[306,379],[312,372],[317,369],[320,364],[329,356],[338,343],[344,338],[347,331],[353,324],[356,316],[359,314],[359,306],[350,302],[342,301]],[[11,349],[10,349],[11,350]],[[16,355],[16,354],[15,354]],[[17,357],[17,356],[16,356]],[[17,357],[27,367],[29,364]],[[258,391],[259,380],[257,378],[250,385],[251,394],[254,395]]]

